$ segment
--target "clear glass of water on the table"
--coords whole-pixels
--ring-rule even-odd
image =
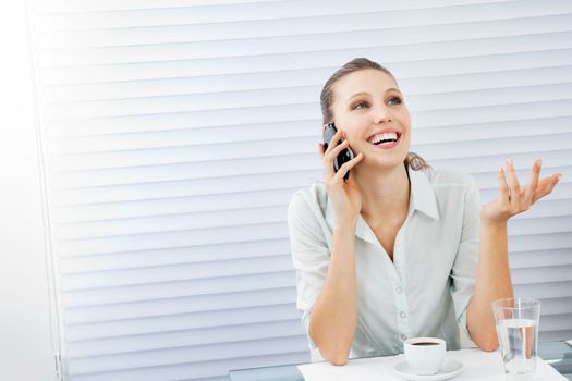
[[[507,298],[492,302],[507,381],[534,380],[540,302]]]

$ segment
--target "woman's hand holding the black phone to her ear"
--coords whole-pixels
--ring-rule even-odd
[[[336,172],[333,169],[336,158],[343,149],[349,147],[348,140],[338,144],[343,137],[343,131],[338,130],[336,135],[332,136],[326,151],[324,151],[324,145],[320,144],[320,156],[324,161],[324,183],[326,184],[326,190],[333,207],[333,214],[338,220],[337,223],[355,223],[362,210],[362,199],[353,176],[350,174],[346,181],[344,181],[343,177],[348,171],[362,161],[364,156],[360,152],[352,160],[343,163],[340,170]]]

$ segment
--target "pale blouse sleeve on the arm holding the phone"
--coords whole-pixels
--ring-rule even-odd
[[[312,307],[321,293],[330,259],[324,234],[324,214],[317,200],[299,192],[288,207],[288,226],[292,261],[296,270],[296,306],[302,310],[302,324],[312,349],[316,345],[309,337]]]

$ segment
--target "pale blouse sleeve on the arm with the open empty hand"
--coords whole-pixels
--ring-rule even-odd
[[[461,239],[451,270],[453,280],[451,296],[459,323],[461,345],[474,346],[466,328],[466,308],[475,291],[479,245],[480,197],[473,177],[468,176],[467,185],[464,198]],[[463,345],[463,342],[465,342],[465,345]]]

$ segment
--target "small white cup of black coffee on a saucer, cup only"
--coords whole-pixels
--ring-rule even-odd
[[[447,343],[437,337],[413,337],[403,342],[405,360],[415,374],[435,374],[441,370]]]

